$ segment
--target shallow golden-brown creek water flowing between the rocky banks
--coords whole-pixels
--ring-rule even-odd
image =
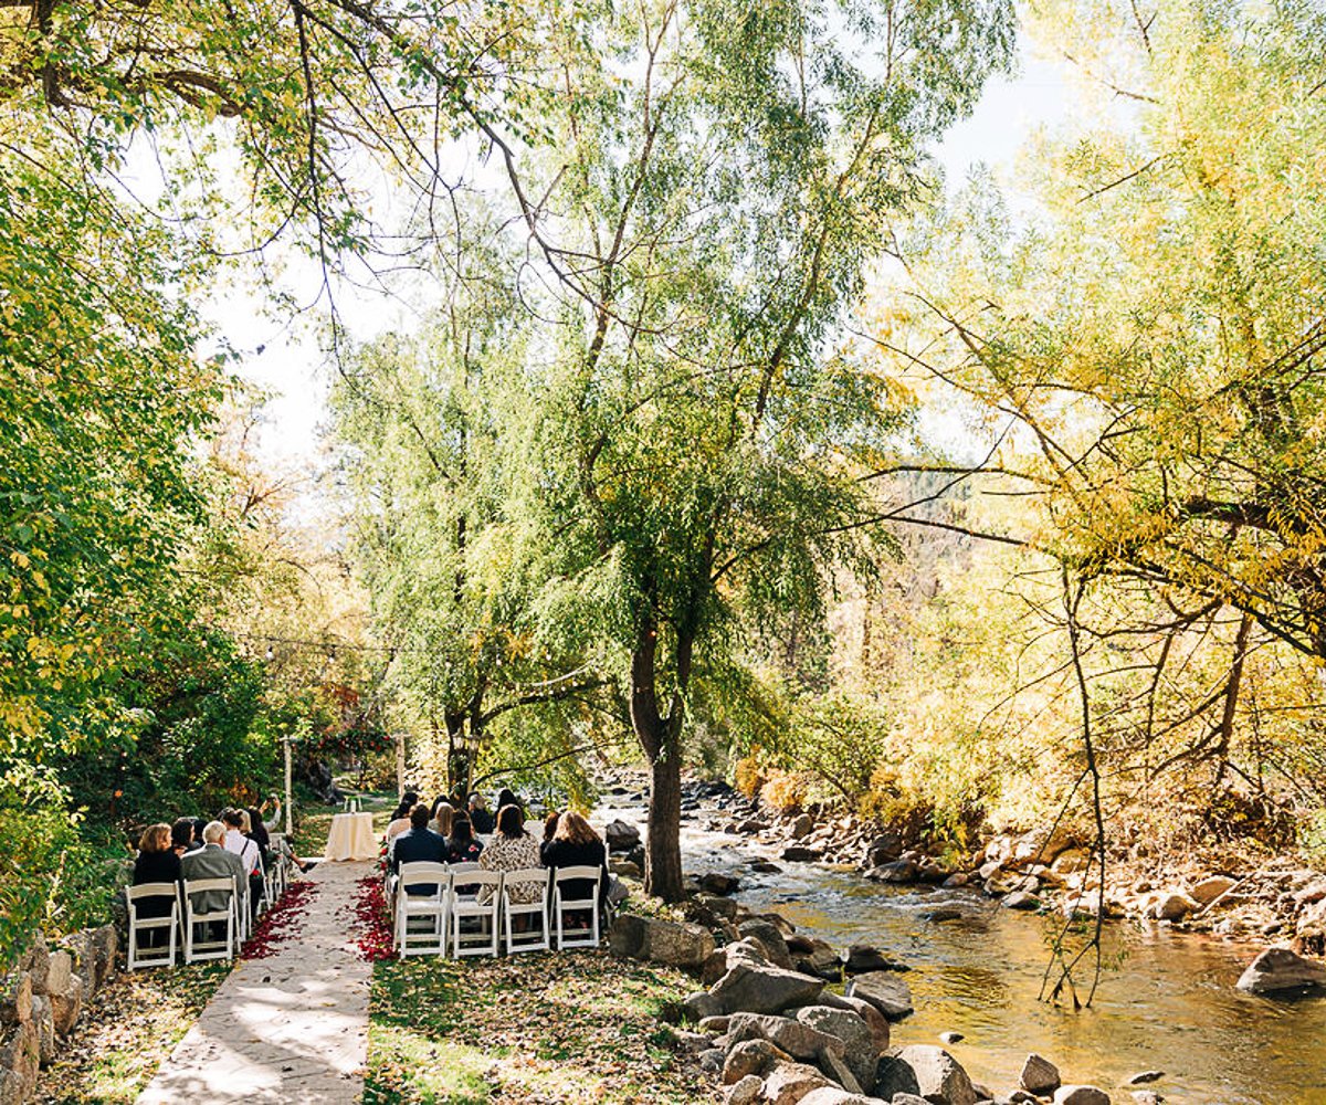
[[[605,813],[635,824],[643,816]],[[992,1090],[1014,1088],[1034,1051],[1065,1081],[1098,1085],[1116,1102],[1131,1101],[1124,1082],[1132,1074],[1163,1071],[1148,1088],[1167,1101],[1326,1105],[1326,998],[1278,1002],[1236,990],[1256,946],[1110,922],[1095,999],[1074,1012],[1037,1000],[1057,917],[1005,910],[968,890],[890,886],[841,868],[782,862],[756,841],[691,818],[682,850],[687,873],[740,876],[735,897],[752,910],[777,910],[798,933],[835,947],[873,943],[910,964],[916,1012],[894,1025],[894,1041],[937,1044],[940,1032],[961,1032],[949,1051]],[[782,870],[754,873],[754,860]],[[923,914],[939,903],[963,917],[927,922]]]

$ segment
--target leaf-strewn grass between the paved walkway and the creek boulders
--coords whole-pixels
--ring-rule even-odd
[[[365,1105],[719,1101],[658,1020],[693,988],[597,951],[382,960]]]

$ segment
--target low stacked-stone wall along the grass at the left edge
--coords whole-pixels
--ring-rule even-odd
[[[86,929],[50,951],[42,938],[0,979],[0,1105],[27,1101],[84,1008],[115,971],[114,926]]]

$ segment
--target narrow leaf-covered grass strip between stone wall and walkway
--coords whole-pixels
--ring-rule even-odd
[[[115,975],[85,1011],[36,1101],[134,1101],[231,972],[229,963]]]

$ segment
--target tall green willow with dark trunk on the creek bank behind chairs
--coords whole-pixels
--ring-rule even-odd
[[[896,405],[835,322],[1012,36],[998,0],[574,9],[542,52],[550,143],[493,135],[557,300],[511,513],[545,616],[614,658],[652,894],[683,893],[696,681],[741,618],[814,612],[871,556],[857,466]]]

